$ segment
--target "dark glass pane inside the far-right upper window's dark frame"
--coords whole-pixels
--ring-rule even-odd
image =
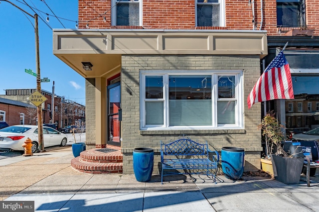
[[[300,3],[277,3],[277,26],[300,26]]]

